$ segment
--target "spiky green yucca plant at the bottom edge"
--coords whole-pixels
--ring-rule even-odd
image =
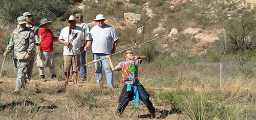
[[[218,115],[215,104],[207,102],[201,96],[187,98],[180,108],[183,114],[180,117],[184,120],[212,120]]]

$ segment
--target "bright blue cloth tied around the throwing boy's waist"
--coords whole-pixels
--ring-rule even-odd
[[[134,105],[139,105],[140,104],[140,95],[137,86],[141,85],[139,80],[137,79],[134,84],[127,84],[126,92],[131,93],[132,90],[134,91],[133,95],[133,100],[134,100]],[[132,100],[130,100],[132,101]]]

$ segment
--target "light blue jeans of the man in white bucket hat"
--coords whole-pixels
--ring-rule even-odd
[[[94,60],[103,58],[109,54],[102,54],[102,53],[93,53]],[[104,68],[105,74],[106,74],[106,81],[108,82],[109,87],[113,87],[113,71],[111,70],[110,63],[108,59],[103,59],[102,61],[96,62],[94,64],[95,66],[95,78],[97,81],[97,84],[102,86],[102,66]]]

